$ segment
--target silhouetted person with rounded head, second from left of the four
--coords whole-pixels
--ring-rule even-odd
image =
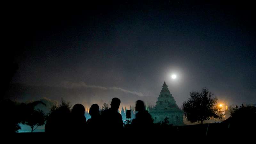
[[[90,119],[87,120],[87,125],[90,130],[99,130],[102,126],[100,111],[99,111],[98,104],[92,104],[89,114],[92,116]]]

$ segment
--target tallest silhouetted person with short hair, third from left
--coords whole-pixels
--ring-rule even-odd
[[[117,130],[124,127],[123,118],[118,113],[121,100],[113,98],[111,101],[111,108],[105,110],[102,114],[104,127],[108,130]]]

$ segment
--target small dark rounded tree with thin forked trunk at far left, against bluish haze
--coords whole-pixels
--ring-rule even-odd
[[[45,114],[42,110],[33,110],[28,117],[22,122],[22,124],[29,125],[31,132],[36,130],[38,126],[44,125]],[[36,126],[36,127],[35,127]]]

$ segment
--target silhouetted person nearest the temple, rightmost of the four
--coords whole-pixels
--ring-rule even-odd
[[[145,109],[145,105],[142,100],[136,101],[135,111],[138,111],[138,113],[135,115],[135,119],[132,121],[132,126],[134,128],[148,129],[153,126],[151,115]]]

